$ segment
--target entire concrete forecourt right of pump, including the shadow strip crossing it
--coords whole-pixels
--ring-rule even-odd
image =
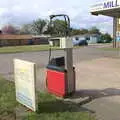
[[[76,97],[97,120],[120,120],[120,60],[99,58],[76,64]]]

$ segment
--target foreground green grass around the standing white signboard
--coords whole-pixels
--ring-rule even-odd
[[[38,93],[38,111],[29,111],[15,100],[14,83],[0,77],[0,120],[95,120],[78,105],[48,93]]]

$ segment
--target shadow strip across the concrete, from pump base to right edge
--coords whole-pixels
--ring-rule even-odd
[[[109,96],[119,96],[119,95],[120,95],[120,89],[116,89],[116,88],[106,88],[104,90],[84,89],[84,90],[76,91],[76,93],[71,98],[69,98],[69,100],[74,101],[74,99],[78,99],[77,104],[84,105],[93,101],[94,99],[109,97]],[[80,101],[79,100],[80,98],[86,98],[86,99]]]

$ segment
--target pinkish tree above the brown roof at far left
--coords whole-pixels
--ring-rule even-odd
[[[5,25],[2,28],[2,32],[5,34],[17,34],[19,32],[19,29],[13,25]]]

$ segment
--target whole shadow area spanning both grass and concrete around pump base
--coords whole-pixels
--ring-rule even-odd
[[[119,95],[120,89],[115,88],[107,88],[104,90],[96,89],[78,90],[72,97],[67,98],[67,100],[55,99],[50,101],[39,102],[38,113],[80,112],[80,111],[95,113],[95,111],[86,109],[82,105],[87,104],[94,99]],[[77,102],[74,101],[75,99],[78,99]]]

